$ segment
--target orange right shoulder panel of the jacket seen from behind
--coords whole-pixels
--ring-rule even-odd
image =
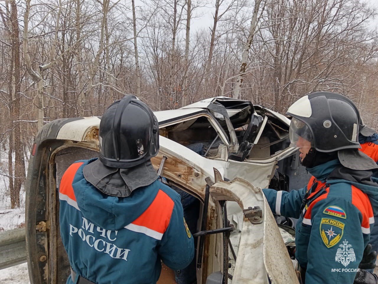
[[[132,224],[163,234],[169,225],[173,207],[174,201],[160,189],[150,206]]]

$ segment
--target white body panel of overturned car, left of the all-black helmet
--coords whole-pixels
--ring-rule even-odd
[[[68,122],[60,128],[56,139],[84,141],[87,132],[93,126],[99,127],[100,121],[97,116],[91,116]]]

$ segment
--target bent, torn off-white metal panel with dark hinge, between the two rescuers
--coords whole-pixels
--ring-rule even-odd
[[[240,209],[260,207],[261,223],[244,218],[232,282],[240,284],[298,283],[296,273],[276,221],[263,192],[244,179],[219,181],[210,188],[213,200],[229,200]],[[248,217],[248,216],[245,216]],[[257,261],[264,256],[263,263]]]

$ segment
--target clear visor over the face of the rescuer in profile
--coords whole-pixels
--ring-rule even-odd
[[[290,147],[311,148],[314,147],[310,128],[299,119],[293,117],[289,128]]]

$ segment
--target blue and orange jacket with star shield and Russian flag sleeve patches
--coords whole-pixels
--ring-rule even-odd
[[[351,178],[339,160],[307,170],[313,176],[303,189],[263,192],[273,213],[298,218],[295,256],[306,284],[352,284],[378,210],[378,184],[371,171]]]

